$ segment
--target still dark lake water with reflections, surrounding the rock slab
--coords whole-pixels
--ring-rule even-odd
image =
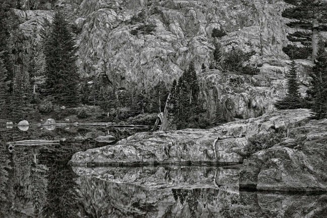
[[[139,130],[0,129],[0,217],[326,217],[327,195],[239,191],[240,166],[75,168],[93,138]],[[45,139],[59,145],[7,142]]]

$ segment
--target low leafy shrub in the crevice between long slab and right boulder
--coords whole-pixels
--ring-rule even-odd
[[[273,147],[274,145],[282,142],[282,139],[287,135],[285,128],[276,129],[275,132],[268,134],[254,135],[248,139],[248,145],[244,149],[244,159],[249,158],[252,154],[259,150]]]

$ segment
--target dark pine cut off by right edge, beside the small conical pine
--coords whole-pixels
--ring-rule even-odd
[[[313,67],[312,77],[312,118],[316,120],[327,118],[327,52],[319,47],[318,56]]]

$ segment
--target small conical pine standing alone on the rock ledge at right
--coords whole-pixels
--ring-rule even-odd
[[[279,110],[283,109],[297,109],[303,105],[303,100],[300,95],[300,84],[297,79],[297,72],[294,60],[287,74],[287,94],[282,100],[278,100],[275,106]]]

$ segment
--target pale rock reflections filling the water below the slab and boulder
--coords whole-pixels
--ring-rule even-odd
[[[327,195],[239,192],[237,168],[74,168],[89,217],[327,217]]]

